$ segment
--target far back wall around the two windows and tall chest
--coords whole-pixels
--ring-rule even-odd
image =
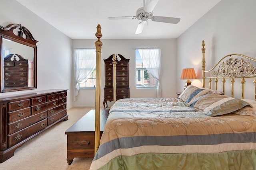
[[[104,28],[102,28],[104,29]],[[95,30],[96,31],[96,30]],[[104,37],[104,33],[102,32]],[[94,48],[95,40],[73,40],[73,48]],[[104,100],[104,61],[116,53],[123,55],[129,62],[130,98],[156,98],[156,89],[135,88],[135,49],[145,47],[161,48],[162,97],[176,97],[176,39],[102,39],[101,54],[101,103]],[[74,107],[94,107],[95,90],[80,90]],[[108,102],[108,107],[112,102]],[[101,105],[103,107],[103,104]]]

